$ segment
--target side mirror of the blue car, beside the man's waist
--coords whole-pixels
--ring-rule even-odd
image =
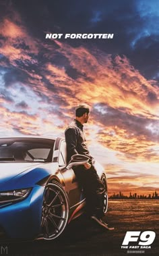
[[[72,155],[71,156],[71,160],[69,161],[69,163],[66,166],[67,170],[70,170],[73,166],[77,166],[77,165],[82,165],[84,163],[88,163],[89,161],[89,157],[87,157],[86,155]]]

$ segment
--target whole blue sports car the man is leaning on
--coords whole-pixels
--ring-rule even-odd
[[[0,238],[51,240],[84,212],[85,197],[73,165],[88,161],[74,155],[67,164],[62,138],[0,138]],[[105,188],[106,175],[96,161]]]

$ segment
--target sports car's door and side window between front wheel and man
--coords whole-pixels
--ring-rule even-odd
[[[61,169],[61,174],[65,180],[65,189],[69,197],[70,207],[82,201],[82,189],[77,183],[77,179],[72,169],[67,170],[65,166],[67,165],[67,149],[65,140],[61,140],[59,147],[59,167]]]

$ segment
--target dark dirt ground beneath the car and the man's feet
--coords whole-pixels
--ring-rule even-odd
[[[65,256],[120,256],[120,255],[159,255],[159,201],[116,200],[109,201],[105,217],[109,226],[115,230],[104,230],[81,216],[71,222],[65,233],[57,240],[32,242],[11,242],[1,245],[7,251],[1,255],[65,255]],[[137,251],[121,249],[127,231],[156,232],[151,249]],[[130,252],[131,251],[131,252]],[[133,252],[132,252],[133,251]],[[135,252],[134,252],[135,251]],[[141,253],[142,251],[142,253]]]

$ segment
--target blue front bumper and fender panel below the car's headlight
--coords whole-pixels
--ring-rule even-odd
[[[35,186],[26,199],[1,206],[0,226],[9,238],[34,238],[39,234],[43,193],[44,186]]]

